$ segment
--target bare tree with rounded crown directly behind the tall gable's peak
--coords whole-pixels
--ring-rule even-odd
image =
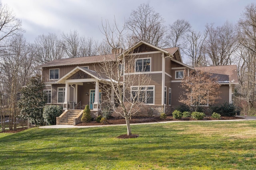
[[[143,40],[157,47],[162,47],[166,27],[163,25],[164,19],[159,13],[149,6],[140,4],[136,10],[130,14],[126,21],[126,29],[132,33],[128,34],[128,39],[138,42]]]

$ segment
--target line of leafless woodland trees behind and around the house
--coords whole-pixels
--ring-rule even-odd
[[[228,21],[222,26],[206,23],[204,32],[193,30],[189,21],[182,19],[168,24],[153,7],[140,4],[125,21],[124,43],[144,40],[161,48],[180,47],[184,62],[193,67],[236,64],[239,105],[252,111],[256,96],[256,4],[248,4],[236,24]],[[30,77],[40,74],[37,65],[53,59],[111,52],[106,40],[98,42],[82,37],[76,30],[61,35],[38,35],[33,43],[26,42],[23,32],[21,20],[0,2],[1,120],[3,113],[8,113],[11,129],[20,112],[17,107],[20,89]]]

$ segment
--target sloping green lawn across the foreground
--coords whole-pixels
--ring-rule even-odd
[[[242,169],[256,165],[256,121],[31,128],[0,134],[0,169]]]

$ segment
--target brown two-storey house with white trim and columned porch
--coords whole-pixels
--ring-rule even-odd
[[[151,76],[150,84],[146,87],[151,99],[146,100],[145,104],[156,112],[170,113],[171,109],[181,104],[178,101],[182,91],[180,82],[185,69],[188,72],[190,69],[202,69],[217,75],[221,84],[219,102],[232,102],[234,85],[238,84],[236,65],[193,68],[182,62],[178,47],[161,49],[144,41],[136,43],[130,49],[133,52],[123,56],[136,56],[134,69],[129,74],[144,70],[144,74]],[[110,60],[111,57],[114,59],[114,53],[109,56]],[[110,80],[110,77],[96,71],[102,60],[104,55],[56,59],[39,65],[46,85],[44,91],[47,104],[62,105],[64,110],[72,109],[77,104],[82,108],[89,104],[92,111],[100,111],[99,84]],[[126,75],[125,72],[124,77]]]

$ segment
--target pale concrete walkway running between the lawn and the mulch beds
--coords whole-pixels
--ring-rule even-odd
[[[241,117],[244,119],[232,119],[232,120],[214,120],[211,122],[216,122],[216,121],[223,121],[223,122],[230,122],[230,121],[256,121],[256,117],[246,117],[245,116],[236,116],[236,117]],[[174,123],[174,122],[188,122],[188,121],[164,121],[164,122],[149,122],[149,123],[132,123],[130,125],[148,125],[148,124],[157,124],[157,123]],[[198,121],[189,121],[189,122],[198,122]],[[206,122],[206,121],[202,121]],[[126,124],[122,125],[94,125],[94,126],[74,126],[74,125],[50,125],[50,126],[43,126],[39,128],[90,128],[90,127],[110,127],[110,126],[126,126]]]

